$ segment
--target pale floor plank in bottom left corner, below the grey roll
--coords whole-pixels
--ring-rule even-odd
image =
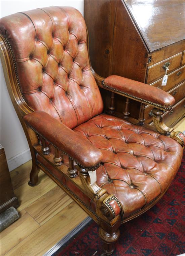
[[[0,255],[7,253],[39,227],[40,225],[25,210],[22,210],[20,219],[0,233]]]

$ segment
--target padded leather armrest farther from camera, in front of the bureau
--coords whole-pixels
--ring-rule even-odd
[[[175,99],[169,93],[148,84],[137,82],[120,76],[107,77],[103,85],[109,89],[117,90],[136,100],[168,110],[175,103]],[[128,95],[126,95],[128,94]]]

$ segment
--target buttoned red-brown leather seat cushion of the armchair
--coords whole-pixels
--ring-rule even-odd
[[[181,163],[175,140],[114,116],[98,115],[74,131],[102,150],[97,183],[117,196],[124,217],[164,192]]]

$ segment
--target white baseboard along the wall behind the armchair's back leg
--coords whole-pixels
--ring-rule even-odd
[[[30,159],[31,153],[29,148],[25,149],[21,153],[18,153],[17,155],[14,155],[14,157],[7,159],[9,171],[14,170],[18,166],[28,162]]]

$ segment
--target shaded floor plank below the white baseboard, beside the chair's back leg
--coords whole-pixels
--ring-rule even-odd
[[[32,161],[30,160],[10,172],[10,177],[14,190],[29,181],[31,169]]]

